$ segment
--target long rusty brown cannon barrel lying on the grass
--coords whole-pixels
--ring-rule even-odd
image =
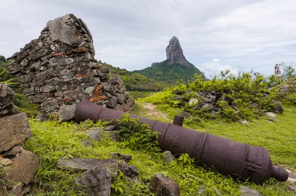
[[[112,121],[116,129],[119,129],[116,119],[123,114],[125,113],[84,100],[75,109],[75,121],[79,123],[86,119],[102,119]],[[136,115],[130,117],[139,118]],[[173,155],[187,153],[196,161],[202,161],[206,166],[214,166],[223,174],[249,179],[257,184],[262,184],[270,177],[282,182],[288,179],[288,172],[283,167],[272,165],[266,148],[182,127],[183,119],[178,117],[173,124],[144,117],[140,117],[140,121],[148,123],[153,131],[161,133],[158,138],[159,147]]]

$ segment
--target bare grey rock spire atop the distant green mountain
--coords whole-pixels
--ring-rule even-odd
[[[183,50],[180,45],[179,39],[176,36],[170,39],[170,43],[166,47],[165,51],[167,54],[168,65],[179,63],[185,65],[186,67],[190,67],[189,62],[186,60],[183,54]]]

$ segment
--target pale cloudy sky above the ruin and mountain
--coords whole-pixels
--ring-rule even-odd
[[[0,54],[11,56],[47,21],[73,13],[91,32],[96,59],[115,67],[165,60],[176,36],[207,77],[239,66],[268,75],[277,63],[296,64],[295,7],[296,0],[3,0]]]

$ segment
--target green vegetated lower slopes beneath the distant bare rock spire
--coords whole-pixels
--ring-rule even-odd
[[[135,70],[133,73],[141,74],[156,81],[175,84],[180,81],[180,79],[183,79],[184,81],[192,81],[194,80],[195,74],[202,74],[194,65],[191,63],[189,64],[189,68],[181,64],[168,65],[167,60],[165,60],[143,70]]]

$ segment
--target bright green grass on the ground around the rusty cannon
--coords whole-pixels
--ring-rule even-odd
[[[172,113],[172,111],[170,112]],[[141,115],[145,113],[145,109],[140,104],[137,113]],[[185,126],[235,141],[263,146],[270,151],[273,163],[296,171],[295,113],[295,108],[292,108],[292,111],[285,111],[283,115],[278,116],[280,120],[278,123],[268,123],[266,119],[259,119],[256,122],[251,122],[250,126],[243,126],[238,123],[212,120],[202,121],[198,124],[185,121]],[[171,118],[170,115],[169,118]],[[162,118],[157,119],[162,120]],[[171,120],[165,119],[165,121]],[[111,141],[107,132],[104,133],[102,143],[92,141],[91,146],[83,146],[81,140],[87,138],[85,131],[91,126],[104,127],[106,125],[104,122],[99,121],[96,124],[88,122],[75,126],[73,123],[67,122],[39,122],[30,119],[30,125],[33,136],[25,143],[24,148],[38,156],[38,172],[33,181],[34,196],[83,195],[83,193],[71,190],[74,178],[81,173],[58,169],[56,167],[57,160],[62,157],[110,158],[111,152],[132,155],[133,158],[129,164],[135,165],[140,172],[139,180],[136,182],[122,175],[112,179],[112,184],[123,183],[120,185],[123,194],[112,189],[112,196],[152,196],[148,186],[150,179],[157,173],[173,178],[180,185],[182,196],[196,195],[203,185],[206,186],[207,196],[216,196],[211,187],[219,190],[222,196],[239,196],[240,185],[247,185],[258,190],[262,196],[294,195],[287,190],[287,183],[278,182],[273,178],[259,186],[254,183],[233,180],[213,168],[205,169],[197,166],[191,159],[175,160],[168,165],[161,153],[123,147],[121,143]],[[182,157],[186,157],[186,155]]]

